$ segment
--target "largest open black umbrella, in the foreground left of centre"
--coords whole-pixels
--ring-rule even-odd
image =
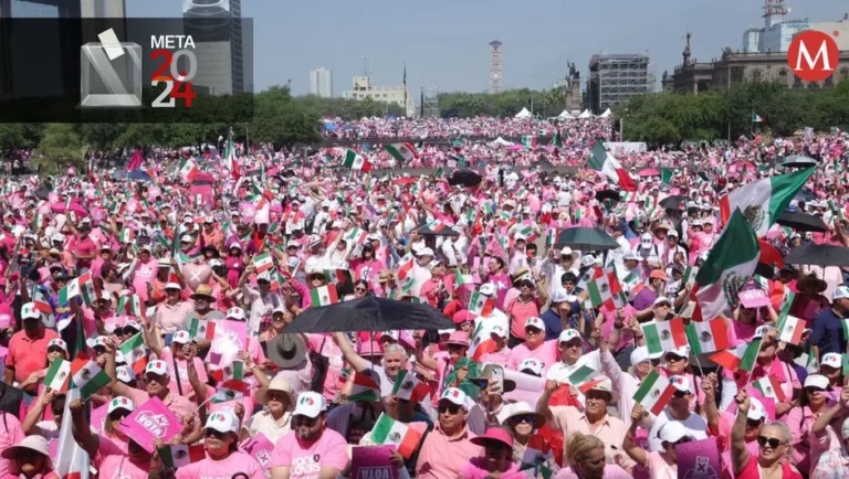
[[[454,329],[442,311],[427,304],[367,296],[305,309],[283,330],[291,332],[399,331]]]

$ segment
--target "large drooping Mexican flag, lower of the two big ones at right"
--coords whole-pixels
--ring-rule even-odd
[[[757,237],[743,213],[735,211],[695,276],[702,318],[714,319],[729,307],[729,298],[752,277],[759,257]]]

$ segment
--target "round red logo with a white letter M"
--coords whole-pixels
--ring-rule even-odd
[[[839,32],[834,32],[837,36]],[[837,42],[828,33],[817,30],[801,32],[787,50],[787,64],[793,73],[806,82],[822,82],[834,75],[839,60]]]

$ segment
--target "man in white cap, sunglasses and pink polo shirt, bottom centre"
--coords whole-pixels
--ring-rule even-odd
[[[467,417],[472,401],[457,387],[449,387],[439,398],[439,424],[421,444],[416,477],[419,479],[455,478],[469,459],[478,457],[482,447],[472,444]],[[272,478],[276,479],[276,478]]]

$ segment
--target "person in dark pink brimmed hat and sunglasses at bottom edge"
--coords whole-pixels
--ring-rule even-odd
[[[521,464],[513,460],[513,437],[502,426],[492,426],[483,436],[470,440],[483,447],[483,455],[469,459],[460,469],[463,479],[524,479],[525,472],[520,472]]]

